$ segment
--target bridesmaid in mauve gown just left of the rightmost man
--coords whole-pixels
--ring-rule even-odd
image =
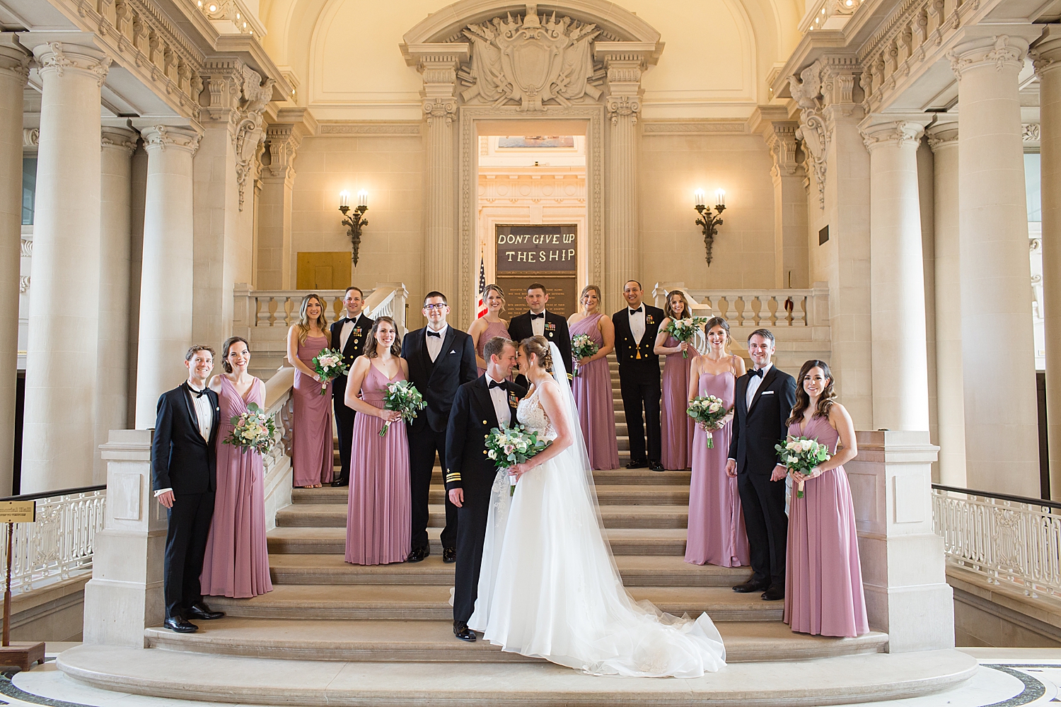
[[[693,474],[689,487],[689,531],[685,562],[740,567],[750,562],[748,534],[737,493],[736,477],[726,474],[732,425],[733,390],[744,375],[744,359],[730,353],[729,324],[712,317],[706,324],[708,353],[693,361],[686,400],[698,395],[721,399],[731,410],[724,424],[708,436],[696,425],[693,435]]]

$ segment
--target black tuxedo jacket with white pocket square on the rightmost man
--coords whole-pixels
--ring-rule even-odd
[[[778,453],[773,445],[782,442],[788,434],[785,421],[796,405],[796,378],[771,366],[749,407],[747,392],[750,379],[750,371],[736,379],[729,457],[736,460],[737,474],[768,475],[778,465]]]

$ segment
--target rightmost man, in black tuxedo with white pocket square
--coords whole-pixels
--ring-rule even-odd
[[[763,591],[763,599],[785,598],[785,467],[775,444],[788,434],[785,421],[796,404],[796,378],[770,363],[773,334],[759,329],[748,337],[752,369],[736,379],[736,403],[726,473],[737,479],[744,526],[751,552],[751,579],[734,591]]]

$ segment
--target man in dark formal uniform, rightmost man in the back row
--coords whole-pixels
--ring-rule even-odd
[[[662,472],[660,357],[653,353],[653,349],[663,321],[663,310],[641,301],[641,283],[637,280],[629,280],[623,285],[623,297],[629,306],[611,315],[611,323],[615,325],[619,387],[630,439],[630,461],[626,467],[647,466],[654,472]],[[641,422],[642,408],[645,411],[644,425]],[[645,427],[648,428],[647,456]]]

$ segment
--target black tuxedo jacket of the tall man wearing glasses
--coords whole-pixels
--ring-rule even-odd
[[[410,332],[401,342],[401,356],[408,361],[408,379],[423,395],[428,407],[413,420],[413,431],[425,425],[445,432],[453,396],[463,383],[475,379],[475,347],[471,337],[452,325],[446,328],[442,348],[432,361],[428,354],[427,328]]]

